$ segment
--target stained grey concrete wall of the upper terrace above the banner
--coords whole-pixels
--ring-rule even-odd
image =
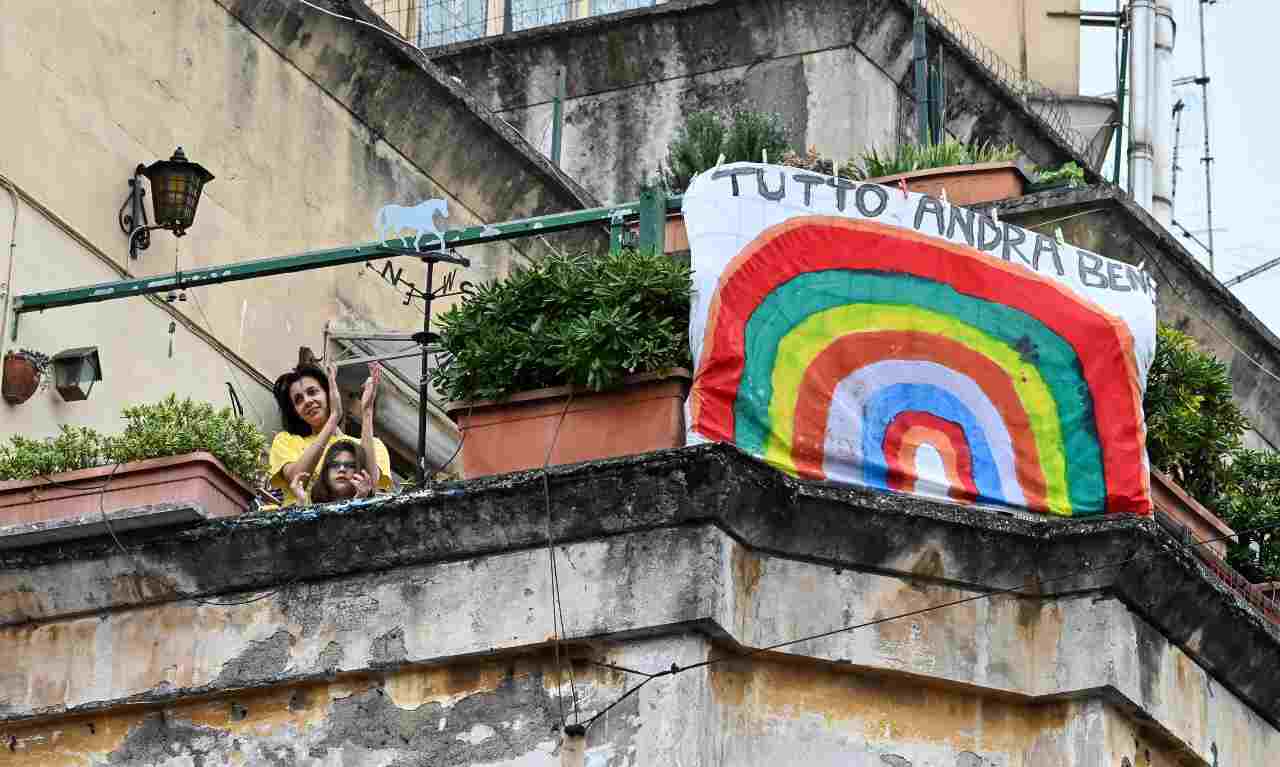
[[[777,113],[797,149],[846,159],[914,136],[901,0],[686,0],[431,54],[543,151],[564,68],[562,165],[602,200],[635,197],[696,110]],[[1014,142],[1039,164],[1070,159],[966,52],[947,47],[946,73],[951,133]]]

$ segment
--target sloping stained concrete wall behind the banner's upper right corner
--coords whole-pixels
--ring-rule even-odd
[[[1208,273],[1183,242],[1114,187],[1050,191],[1006,200],[1000,218],[1129,264],[1158,284],[1156,315],[1226,362],[1235,401],[1252,426],[1249,447],[1280,449],[1280,338]]]

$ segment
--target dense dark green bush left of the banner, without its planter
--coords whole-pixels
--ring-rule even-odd
[[[440,316],[433,380],[452,400],[498,400],[689,365],[691,289],[689,269],[662,254],[544,257]]]

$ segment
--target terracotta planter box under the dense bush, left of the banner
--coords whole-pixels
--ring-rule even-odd
[[[462,469],[467,479],[646,453],[685,444],[685,369],[632,375],[620,389],[593,392],[556,387],[521,392],[503,401],[452,402],[449,416],[465,434]],[[564,410],[572,392],[572,402]],[[556,429],[564,414],[564,424]]]

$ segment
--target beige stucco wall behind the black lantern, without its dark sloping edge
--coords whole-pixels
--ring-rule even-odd
[[[5,0],[0,18],[0,102],[19,117],[0,120],[0,174],[51,214],[27,205],[19,213],[13,293],[118,279],[95,251],[148,275],[172,271],[175,259],[192,268],[366,242],[375,213],[389,202],[444,197],[451,216],[442,224],[480,223],[215,0]],[[311,40],[307,50],[320,49],[324,41]],[[187,237],[156,232],[151,248],[129,262],[116,223],[125,181],[134,165],[168,159],[178,145],[216,178]],[[9,202],[0,206],[8,236]],[[83,242],[60,233],[55,219]],[[502,274],[515,247],[470,250],[471,278]],[[407,266],[415,277],[421,270]],[[105,426],[120,406],[169,391],[225,403],[228,364],[255,371],[233,380],[274,429],[264,384],[294,364],[300,346],[319,353],[324,325],[339,311],[387,329],[421,327],[420,310],[403,306],[361,265],[189,293],[175,306],[230,360],[182,325],[169,359],[169,318],[145,298],[23,316],[17,341],[6,333],[0,348],[99,346],[106,380],[86,403],[63,403],[50,391],[22,406],[0,405],[0,434]]]

